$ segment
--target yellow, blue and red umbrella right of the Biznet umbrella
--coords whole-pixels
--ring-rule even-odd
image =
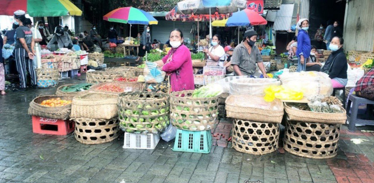
[[[216,27],[234,27],[234,26],[248,26],[248,25],[266,25],[267,21],[257,12],[244,9],[233,13],[227,19],[216,20],[212,22],[212,26]],[[238,40],[239,42],[239,28],[238,28]]]

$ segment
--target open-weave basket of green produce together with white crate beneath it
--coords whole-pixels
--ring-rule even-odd
[[[169,125],[169,96],[144,91],[122,93],[118,116],[125,131],[123,148],[154,149],[159,134]]]

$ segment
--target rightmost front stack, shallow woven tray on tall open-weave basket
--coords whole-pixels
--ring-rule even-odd
[[[287,123],[283,147],[291,154],[315,159],[337,155],[340,126],[346,122],[346,111],[322,113],[299,110],[285,103]]]

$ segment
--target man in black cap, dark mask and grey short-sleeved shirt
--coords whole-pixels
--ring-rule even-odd
[[[262,62],[261,52],[255,46],[257,39],[257,32],[249,27],[244,33],[245,39],[237,45],[231,57],[231,65],[233,65],[236,76],[251,76],[256,72],[256,63],[260,68],[264,77],[266,70]]]

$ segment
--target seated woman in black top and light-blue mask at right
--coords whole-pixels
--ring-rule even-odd
[[[327,58],[321,72],[327,73],[331,78],[333,88],[343,88],[347,85],[347,58],[343,50],[344,40],[341,37],[333,37],[329,48],[332,51]]]

